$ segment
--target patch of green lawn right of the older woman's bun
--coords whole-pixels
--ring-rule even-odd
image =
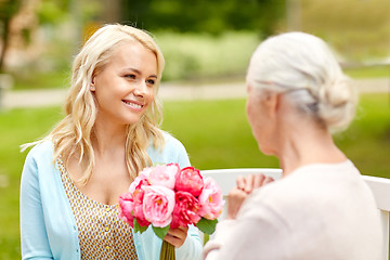
[[[356,119],[335,136],[362,174],[390,178],[390,94],[365,94]]]

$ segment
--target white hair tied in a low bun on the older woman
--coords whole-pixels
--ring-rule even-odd
[[[358,102],[350,80],[320,38],[287,32],[263,41],[251,56],[247,82],[255,89],[288,93],[291,104],[329,131],[346,129]]]

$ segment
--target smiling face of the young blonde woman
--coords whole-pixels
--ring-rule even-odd
[[[120,44],[92,79],[98,118],[104,123],[136,123],[154,100],[157,58],[140,42]]]

